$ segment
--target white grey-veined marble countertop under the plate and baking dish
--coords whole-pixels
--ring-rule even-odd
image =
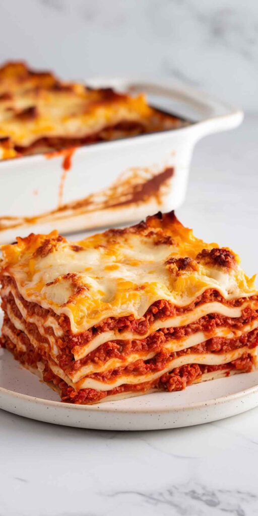
[[[179,218],[257,266],[258,117],[201,140]],[[1,516],[251,516],[258,408],[150,432],[58,427],[0,411]]]

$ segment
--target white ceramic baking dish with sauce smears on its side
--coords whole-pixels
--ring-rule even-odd
[[[240,124],[243,112],[191,87],[144,80],[90,80],[93,87],[144,91],[149,102],[195,120],[173,131],[0,163],[0,242],[30,232],[61,233],[141,219],[182,204],[195,143]],[[67,158],[66,158],[67,163]]]

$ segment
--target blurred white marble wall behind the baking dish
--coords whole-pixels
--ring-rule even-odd
[[[2,0],[0,61],[167,76],[257,111],[257,0]]]

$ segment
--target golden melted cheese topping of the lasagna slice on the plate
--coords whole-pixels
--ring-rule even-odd
[[[74,333],[107,317],[139,318],[158,300],[185,307],[207,289],[225,300],[257,295],[236,254],[193,236],[173,212],[77,243],[30,234],[2,253],[1,271],[21,295],[66,314]]]

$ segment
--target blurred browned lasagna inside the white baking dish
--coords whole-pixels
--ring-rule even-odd
[[[144,94],[65,83],[23,62],[0,68],[0,159],[180,127]]]

